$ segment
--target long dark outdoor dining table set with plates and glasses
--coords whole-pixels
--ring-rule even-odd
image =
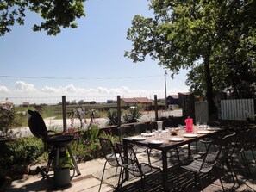
[[[175,149],[178,146],[188,145],[188,156],[191,156],[191,143],[197,142],[200,139],[215,137],[216,134],[222,131],[222,129],[219,129],[217,127],[209,127],[207,129],[197,127],[194,128],[194,131],[192,133],[186,133],[184,131],[184,133],[178,133],[177,135],[172,135],[168,131],[168,128],[166,130],[162,131],[164,133],[141,133],[140,135],[126,137],[122,139],[122,142],[124,157],[127,156],[126,146],[128,146],[128,144],[145,146],[149,149],[155,149],[161,152],[163,191],[170,191],[168,187],[167,152]],[[128,174],[126,174],[126,179],[128,179]]]

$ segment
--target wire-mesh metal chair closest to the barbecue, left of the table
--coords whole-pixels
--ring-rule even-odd
[[[98,191],[100,191],[101,187],[102,187],[104,172],[105,172],[107,163],[109,163],[112,167],[116,167],[116,173],[117,173],[117,168],[118,167],[121,168],[118,183],[116,185],[116,188],[118,188],[119,184],[120,184],[120,179],[122,176],[122,160],[120,157],[120,153],[116,152],[115,146],[113,145],[113,143],[110,139],[99,137],[99,141],[100,141],[100,145],[103,149],[103,154],[104,154],[106,161],[104,164],[103,175],[101,178],[101,183],[100,183],[100,187],[99,187]],[[117,175],[115,174],[114,176],[117,176]]]

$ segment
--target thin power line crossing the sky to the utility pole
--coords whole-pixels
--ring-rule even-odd
[[[112,80],[112,79],[131,79],[131,78],[151,78],[161,77],[162,75],[154,76],[137,76],[137,77],[33,77],[33,76],[2,76],[3,78],[37,78],[37,79],[58,79],[58,80]]]

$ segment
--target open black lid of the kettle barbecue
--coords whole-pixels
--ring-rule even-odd
[[[37,138],[47,139],[47,127],[41,115],[37,111],[32,110],[28,110],[28,114],[30,115],[28,119],[28,127],[31,133]]]

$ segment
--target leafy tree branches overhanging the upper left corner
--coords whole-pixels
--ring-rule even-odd
[[[16,23],[23,25],[26,11],[32,11],[44,20],[34,24],[34,31],[45,30],[48,35],[59,34],[60,28],[77,28],[75,20],[84,14],[86,0],[0,0],[0,36],[11,31]]]

